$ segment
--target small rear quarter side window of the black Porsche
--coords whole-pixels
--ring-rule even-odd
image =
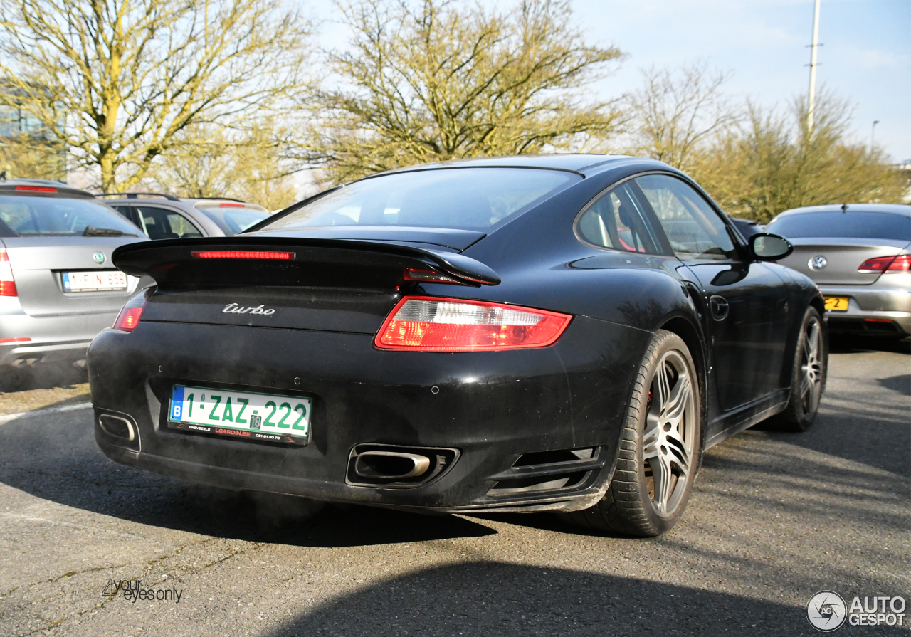
[[[630,187],[620,184],[590,204],[577,221],[579,236],[599,248],[659,253],[658,241]]]

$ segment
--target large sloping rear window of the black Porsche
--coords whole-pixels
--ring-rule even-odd
[[[261,230],[318,226],[418,226],[486,231],[580,180],[559,170],[417,170],[355,181]]]

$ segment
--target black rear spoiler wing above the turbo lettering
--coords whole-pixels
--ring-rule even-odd
[[[436,251],[384,241],[350,239],[314,239],[307,237],[203,237],[199,239],[163,239],[122,245],[111,261],[133,276],[148,275],[164,283],[179,265],[200,260],[192,252],[200,250],[287,251],[294,252],[300,265],[339,264],[363,268],[388,268],[394,262],[410,262],[409,267],[429,268],[443,272],[467,285],[497,285],[499,275],[484,263],[457,252]],[[272,262],[276,263],[276,262]]]

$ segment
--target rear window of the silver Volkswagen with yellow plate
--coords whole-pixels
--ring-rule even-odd
[[[889,212],[803,212],[776,219],[765,231],[789,239],[843,237],[911,241],[911,218]]]

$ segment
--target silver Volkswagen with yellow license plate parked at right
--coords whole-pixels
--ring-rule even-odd
[[[819,285],[830,332],[911,334],[911,206],[795,208],[766,231],[793,243],[779,263]]]

